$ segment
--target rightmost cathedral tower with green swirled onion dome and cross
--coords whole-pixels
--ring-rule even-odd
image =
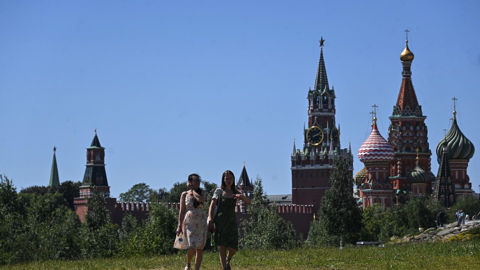
[[[444,143],[447,144],[448,161],[450,171],[452,172],[452,180],[455,185],[456,196],[473,195],[470,177],[467,174],[468,162],[475,153],[473,143],[463,135],[460,127],[456,122],[456,98],[454,100],[453,122],[447,135],[437,145],[437,157],[440,158],[443,153]]]

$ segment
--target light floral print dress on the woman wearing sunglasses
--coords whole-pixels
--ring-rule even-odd
[[[204,248],[207,239],[207,218],[203,210],[203,203],[194,208],[193,197],[188,194],[185,196],[185,218],[182,223],[182,232],[175,238],[173,247],[178,249]]]

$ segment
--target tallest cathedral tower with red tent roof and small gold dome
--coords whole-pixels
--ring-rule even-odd
[[[408,33],[408,30],[406,30]],[[426,184],[426,195],[432,193],[432,182],[435,176],[431,172],[431,155],[428,143],[428,129],[412,83],[410,67],[414,59],[413,52],[408,48],[408,38],[405,49],[400,54],[402,61],[402,84],[390,116],[388,127],[388,143],[394,148],[395,157],[390,164],[390,181],[394,189],[394,202],[404,202],[411,191],[408,173],[417,166],[429,175]]]

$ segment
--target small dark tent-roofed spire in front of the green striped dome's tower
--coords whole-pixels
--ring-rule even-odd
[[[448,143],[443,142],[440,166],[433,187],[432,200],[440,201],[445,208],[450,208],[456,202],[455,185],[452,181],[450,164],[448,162]]]

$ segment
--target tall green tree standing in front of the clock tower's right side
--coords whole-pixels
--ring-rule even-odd
[[[325,230],[339,237],[340,247],[343,247],[345,236],[358,233],[361,224],[361,210],[353,198],[353,179],[345,157],[335,161],[330,181],[331,187],[322,198],[318,216]]]

